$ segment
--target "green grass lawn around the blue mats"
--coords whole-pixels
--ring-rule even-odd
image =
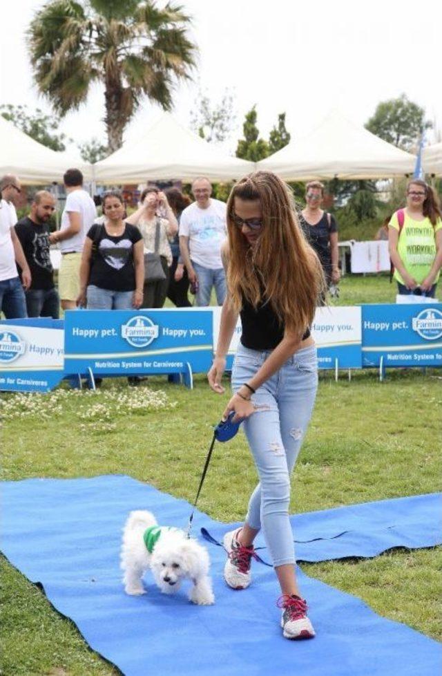
[[[394,301],[387,276],[347,277],[339,303]],[[227,384],[227,382],[226,382]],[[59,388],[2,395],[3,479],[126,473],[192,501],[227,397],[195,377],[192,392],[152,377],[138,388],[105,380],[98,393]],[[442,373],[436,369],[320,374],[314,416],[292,480],[291,511],[302,512],[441,487]],[[68,431],[68,433],[66,433]],[[256,482],[244,436],[216,447],[198,507],[226,522],[244,516]],[[110,676],[69,620],[5,559],[3,676]],[[376,612],[442,638],[440,549],[395,550],[371,560],[302,565],[355,594]],[[215,572],[214,572],[215,573]]]

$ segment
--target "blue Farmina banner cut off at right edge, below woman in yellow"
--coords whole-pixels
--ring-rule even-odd
[[[442,366],[442,303],[362,306],[363,366]]]

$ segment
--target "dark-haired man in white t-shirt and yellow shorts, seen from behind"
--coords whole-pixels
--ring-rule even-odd
[[[59,297],[64,310],[77,307],[80,292],[80,263],[84,240],[97,217],[94,200],[83,189],[83,174],[79,169],[68,169],[63,177],[66,205],[61,214],[61,225],[52,232],[49,241],[59,243],[61,265],[58,274]]]

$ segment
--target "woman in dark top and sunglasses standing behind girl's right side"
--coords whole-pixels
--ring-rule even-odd
[[[332,214],[325,212],[323,205],[324,186],[318,180],[310,181],[305,188],[305,209],[302,209],[300,226],[307,241],[318,254],[323,266],[327,288],[340,279],[338,267],[338,226]],[[325,302],[324,295],[320,304]]]

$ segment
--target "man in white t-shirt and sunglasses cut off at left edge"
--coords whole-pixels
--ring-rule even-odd
[[[31,278],[28,262],[14,226],[17,212],[12,203],[21,193],[17,176],[7,174],[0,181],[0,311],[6,319],[23,319],[26,313],[26,299],[23,287],[30,287]],[[17,263],[22,270],[23,285],[17,271]]]

